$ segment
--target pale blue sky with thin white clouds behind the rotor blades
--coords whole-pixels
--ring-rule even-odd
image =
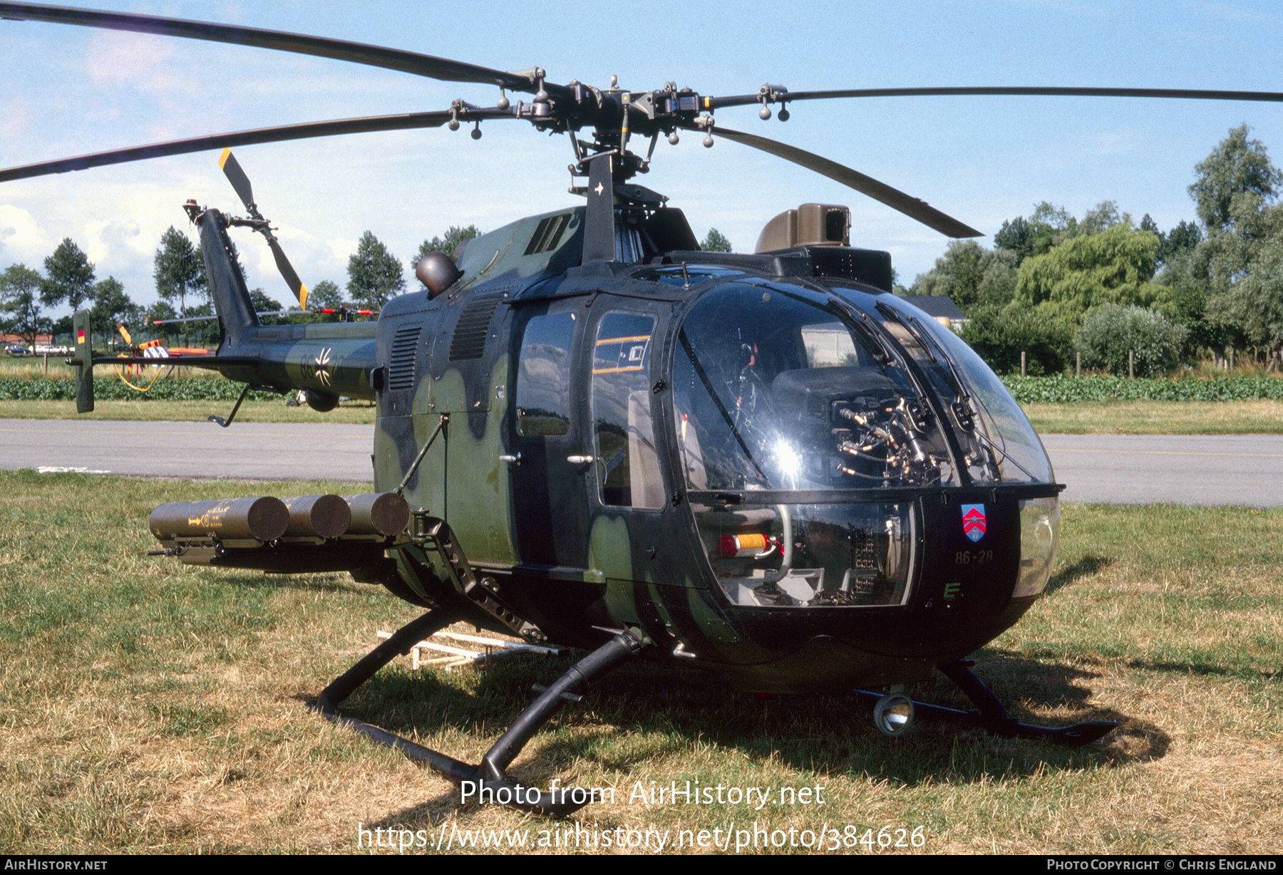
[[[526,4],[94,0],[95,8],[330,36],[554,82],[629,89],[674,81],[704,95],[907,86],[1117,86],[1283,91],[1283,8],[1271,1],[591,3]],[[824,14],[817,14],[822,10]],[[353,115],[494,105],[498,89],[350,63],[64,24],[0,21],[0,166]],[[526,95],[517,95],[522,98]],[[526,99],[529,99],[526,96]],[[1230,128],[1283,166],[1283,104],[1096,98],[901,98],[752,106],[717,122],[821,154],[984,231],[1048,201],[1082,217],[1112,200],[1160,228],[1194,218],[1194,167]],[[236,157],[290,260],[314,286],[346,282],[371,231],[403,263],[454,225],[497,228],[575,205],[571,148],[525,123],[245,146]],[[634,142],[634,150],[638,145]],[[136,302],[155,300],[153,260],[189,198],[242,212],[218,153],[0,183],[0,269],[42,269],[64,239]],[[680,207],[701,239],[718,228],[752,251],[762,226],[801,203],[847,204],[852,244],[892,253],[906,285],[947,245],[894,210],[729,140],[662,137],[638,182]],[[194,236],[194,235],[192,235]],[[195,236],[194,236],[195,239]],[[266,245],[236,237],[250,287],[290,293]],[[409,277],[407,267],[407,277]],[[62,313],[55,310],[54,316]]]

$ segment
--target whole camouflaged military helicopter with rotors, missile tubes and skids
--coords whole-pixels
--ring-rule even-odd
[[[1283,95],[765,85],[712,96],[675,83],[645,91],[615,81],[558,83],[539,68],[513,73],[150,15],[0,3],[0,17],[310,54],[499,89],[490,106],[458,99],[434,112],[259,128],[0,171],[4,182],[222,149],[219,163],[248,218],[194,200],[182,205],[200,235],[221,330],[216,352],[185,363],[218,371],[245,391],[302,391],[317,411],[332,409],[340,396],[376,403],[373,495],[182,503],[157,508],[150,520],[158,553],[185,563],[345,571],[425,608],[317,697],[327,717],[461,786],[545,815],[570,813],[584,795],[521,788],[507,767],[561,707],[630,658],[698,667],[766,693],[858,689],[889,735],[915,717],[939,717],[1006,736],[1088,744],[1116,725],[1020,724],[966,662],[1037,602],[1058,540],[1062,486],[993,372],[890,293],[890,255],[851,245],[848,208],[786,210],[765,225],[753,254],[701,251],[684,213],[636,177],[659,137],[726,139],[825,174],[946,236],[979,236],[916,198],[725,127],[713,113],[756,106],[762,118],[785,118],[797,101],[912,94]],[[513,101],[509,92],[531,99]],[[512,121],[567,137],[582,207],[429,254],[416,269],[423,289],[391,299],[377,321],[259,325],[231,228],[264,237],[300,307],[308,290],[232,148],[367,131],[480,131],[482,122]],[[95,364],[130,363],[95,354],[86,328],[87,314],[78,313],[69,362],[80,411],[92,409]],[[230,425],[239,405],[216,421]],[[458,621],[589,654],[543,689],[480,763],[339,711],[380,667]],[[935,672],[976,708],[903,693]]]

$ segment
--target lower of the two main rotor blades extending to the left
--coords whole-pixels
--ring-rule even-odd
[[[250,131],[235,131],[231,133],[213,133],[189,140],[172,140],[169,142],[153,142],[146,146],[131,146],[128,149],[113,149],[110,151],[98,151],[76,158],[62,158],[40,164],[26,164],[23,167],[10,167],[0,169],[0,182],[12,180],[26,180],[33,176],[49,176],[51,173],[67,173],[68,171],[83,171],[90,167],[105,167],[108,164],[124,164],[128,162],[146,160],[149,158],[164,158],[167,155],[186,155],[194,151],[208,149],[223,149],[227,146],[249,146],[259,142],[285,142],[287,140],[308,140],[310,137],[328,137],[343,133],[371,133],[376,131],[408,131],[413,128],[440,127],[450,121],[452,110],[431,113],[408,113],[404,115],[370,115],[366,118],[340,118],[330,122],[308,122],[304,124],[281,124],[277,127],[262,127]],[[459,110],[461,122],[477,122],[507,118],[514,115],[502,109],[468,109]]]

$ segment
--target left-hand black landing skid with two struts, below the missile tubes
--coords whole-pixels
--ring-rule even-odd
[[[512,722],[508,731],[499,738],[494,745],[481,757],[476,766],[461,762],[422,744],[414,744],[409,739],[389,733],[352,717],[344,717],[337,707],[353,690],[391,662],[398,656],[409,653],[423,638],[449,626],[461,616],[444,608],[434,608],[418,620],[402,626],[386,641],[366,654],[357,665],[345,671],[326,686],[321,695],[312,702],[310,707],[319,711],[327,720],[354,729],[358,733],[395,748],[414,762],[423,763],[446,780],[458,786],[468,784],[477,799],[493,799],[520,811],[535,815],[553,815],[562,817],[570,815],[591,802],[591,794],[577,788],[558,788],[553,792],[536,790],[534,788],[514,784],[504,770],[517,758],[526,742],[539,731],[566,701],[576,701],[576,690],[593,683],[625,657],[642,649],[643,644],[631,633],[622,631],[602,647],[597,648],[586,657],[576,662],[571,668],[557,679],[557,681],[541,690],[539,698],[521,712]]]

